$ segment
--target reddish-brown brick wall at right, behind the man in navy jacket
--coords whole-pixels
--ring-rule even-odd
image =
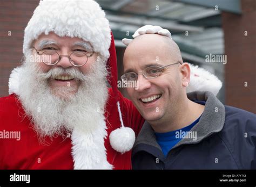
[[[256,1],[243,0],[241,8],[242,15],[222,13],[227,55],[225,101],[256,113]]]

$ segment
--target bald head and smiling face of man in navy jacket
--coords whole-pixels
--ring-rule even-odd
[[[159,34],[136,37],[124,54],[123,77],[137,81],[137,88],[127,88],[127,93],[144,119],[154,125],[156,132],[163,132],[159,124],[165,121],[168,126],[170,115],[175,116],[182,111],[187,99],[190,67],[187,63],[178,62],[183,62],[178,45]],[[157,67],[164,68],[159,73]]]

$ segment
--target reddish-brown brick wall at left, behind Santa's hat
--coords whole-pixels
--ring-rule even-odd
[[[11,70],[21,64],[24,29],[39,0],[0,1],[0,97],[8,96]]]

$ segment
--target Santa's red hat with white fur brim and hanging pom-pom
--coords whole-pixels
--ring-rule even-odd
[[[93,51],[105,57],[107,69],[110,69],[107,81],[109,81],[114,98],[116,99],[121,128],[110,134],[110,144],[117,152],[129,151],[135,141],[135,133],[131,128],[124,127],[122,113],[119,106],[117,89],[117,59],[114,39],[110,30],[109,21],[105,18],[105,12],[99,4],[93,0],[42,0],[33,12],[24,32],[23,54],[29,55],[31,45],[42,33],[54,32],[59,37],[77,37],[90,42]],[[16,70],[17,71],[17,70]],[[12,74],[9,87],[14,87],[16,93],[18,86],[14,79],[17,73]],[[14,83],[16,82],[16,83]],[[16,87],[16,89],[15,89]],[[17,93],[18,94],[18,93]]]

